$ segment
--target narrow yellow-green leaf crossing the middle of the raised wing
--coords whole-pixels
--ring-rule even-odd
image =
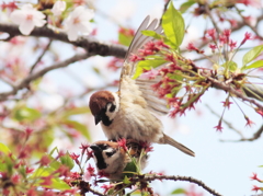
[[[157,68],[167,62],[167,60],[141,60],[136,66],[136,72],[134,74],[134,79],[137,79],[144,70],[150,70],[151,68]]]

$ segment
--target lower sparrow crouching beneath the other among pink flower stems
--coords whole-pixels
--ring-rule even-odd
[[[132,163],[132,160],[125,149],[119,147],[118,142],[96,141],[91,145],[90,148],[93,150],[98,170],[103,172],[110,180],[123,180],[124,176],[128,175],[130,172],[136,172],[129,171],[130,168],[126,168],[128,163]],[[138,142],[128,141],[127,150],[130,157],[136,158],[136,162],[140,163],[140,170],[144,170],[148,155],[145,153],[140,157],[140,145]],[[125,174],[125,171],[128,173]]]

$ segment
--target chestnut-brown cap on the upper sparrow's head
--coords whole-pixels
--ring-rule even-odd
[[[90,109],[93,116],[99,115],[104,109],[107,103],[115,101],[113,94],[110,91],[98,91],[90,97]]]

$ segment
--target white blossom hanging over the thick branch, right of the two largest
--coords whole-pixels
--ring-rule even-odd
[[[77,41],[79,33],[89,35],[92,32],[90,20],[94,16],[91,9],[77,7],[65,20],[65,30],[69,41]]]

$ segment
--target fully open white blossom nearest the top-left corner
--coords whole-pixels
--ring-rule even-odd
[[[35,26],[41,27],[46,23],[45,15],[30,3],[24,4],[21,10],[14,10],[11,13],[11,21],[19,24],[23,35],[30,35]]]

